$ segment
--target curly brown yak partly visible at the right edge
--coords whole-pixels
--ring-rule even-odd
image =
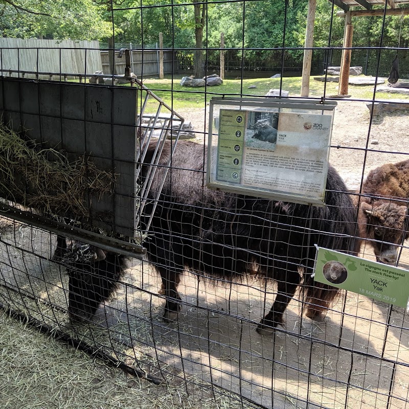
[[[399,245],[409,237],[409,160],[371,170],[362,194],[358,213],[361,237],[370,239],[377,261],[395,264]]]

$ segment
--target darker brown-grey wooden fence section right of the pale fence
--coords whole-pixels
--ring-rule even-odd
[[[175,73],[178,69],[176,53],[171,50],[164,51],[164,73]],[[159,75],[159,50],[130,50],[131,72],[138,78]],[[108,51],[101,51],[102,71],[104,74],[110,74]],[[173,64],[172,64],[173,62]],[[117,74],[125,72],[125,55],[118,58],[118,52],[115,53],[115,66]]]

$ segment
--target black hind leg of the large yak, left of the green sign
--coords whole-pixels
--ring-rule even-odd
[[[278,280],[278,277],[280,277],[281,280]],[[260,335],[271,334],[277,325],[284,323],[283,314],[300,284],[300,275],[298,271],[285,271],[280,269],[279,275],[277,276],[277,283],[278,292],[274,304],[269,313],[257,326],[257,332]]]

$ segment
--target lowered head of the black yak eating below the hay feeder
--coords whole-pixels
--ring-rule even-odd
[[[69,275],[70,319],[89,320],[116,288],[125,257],[88,244],[71,242],[63,260]]]

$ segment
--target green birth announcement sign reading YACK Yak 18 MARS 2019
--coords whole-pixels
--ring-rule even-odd
[[[399,307],[406,307],[409,298],[409,271],[322,247],[314,280]]]

